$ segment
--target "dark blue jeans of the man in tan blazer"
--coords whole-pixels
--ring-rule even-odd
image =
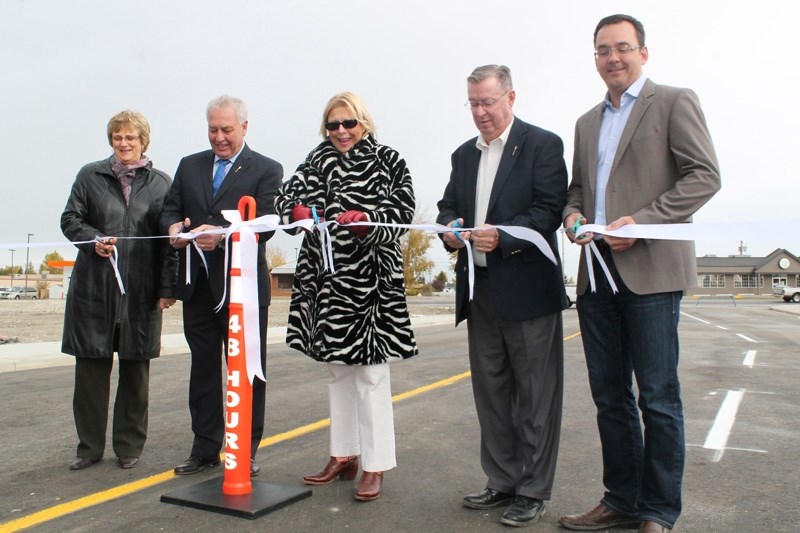
[[[671,528],[681,512],[686,454],[678,381],[682,293],[634,294],[620,280],[613,261],[607,262],[620,292],[612,294],[600,274],[597,292],[587,290],[578,297],[603,447],[607,490],[602,501]]]

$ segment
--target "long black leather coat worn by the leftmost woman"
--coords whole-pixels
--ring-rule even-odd
[[[158,219],[172,179],[148,165],[136,171],[126,205],[110,159],[84,166],[72,186],[61,230],[70,241],[160,235]],[[171,298],[177,254],[168,239],[117,241],[120,293],[109,259],[94,244],[76,245],[61,351],[77,357],[112,357],[119,328],[120,359],[152,359],[161,351],[159,298]]]

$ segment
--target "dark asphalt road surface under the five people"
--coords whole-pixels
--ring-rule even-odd
[[[681,379],[686,412],[684,512],[676,531],[800,530],[800,305],[684,300]],[[191,443],[189,357],[182,336],[165,338],[151,366],[150,427],[140,463],[103,461],[73,472],[72,358],[58,346],[0,346],[0,532],[29,531],[502,531],[502,509],[461,504],[483,488],[466,328],[451,315],[415,317],[420,354],[392,364],[398,468],[381,498],[355,502],[354,482],[313,487],[310,498],[256,520],[163,503],[161,497],[219,478],[222,468],[175,476]],[[267,432],[259,483],[303,487],[327,459],[324,365],[289,350],[270,331]],[[547,514],[530,531],[564,531],[558,517],[602,496],[594,407],[575,309],[564,312],[565,390],[559,464]],[[174,347],[172,342],[174,341]],[[45,343],[57,344],[57,343]],[[174,353],[169,351],[174,350]],[[10,365],[6,366],[6,365]],[[14,370],[16,369],[16,370]],[[112,377],[112,387],[116,378]],[[112,388],[112,390],[114,390]],[[740,396],[738,411],[724,412]],[[113,401],[113,399],[112,399]],[[728,420],[726,438],[710,438]],[[722,428],[725,429],[724,427]],[[725,434],[725,431],[722,431]]]

